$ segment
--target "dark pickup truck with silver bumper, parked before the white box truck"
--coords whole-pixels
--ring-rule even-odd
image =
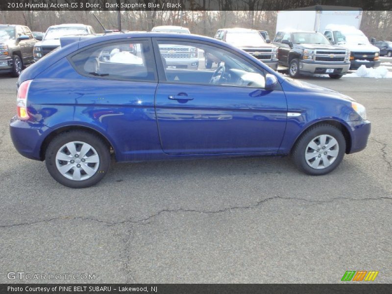
[[[327,73],[341,78],[350,68],[350,51],[332,46],[320,33],[279,31],[272,43],[279,48],[279,65],[288,67],[291,77]]]

